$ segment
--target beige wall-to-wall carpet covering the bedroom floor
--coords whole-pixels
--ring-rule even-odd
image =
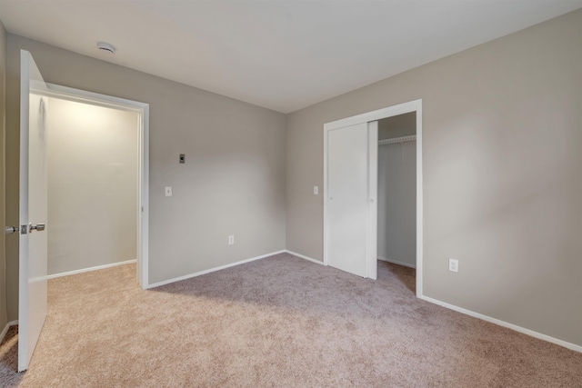
[[[418,300],[415,272],[370,281],[277,254],[153,290],[135,265],[49,281],[14,387],[582,387],[582,353]]]

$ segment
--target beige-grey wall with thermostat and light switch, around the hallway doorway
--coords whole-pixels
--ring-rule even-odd
[[[47,82],[150,104],[151,284],[285,249],[284,114],[21,36],[7,40],[10,221],[17,220],[18,58],[24,48]],[[186,154],[186,164],[178,164],[179,154]],[[173,186],[172,197],[165,186]],[[236,244],[227,244],[229,234]],[[15,319],[17,246],[9,247],[7,264],[8,312]]]

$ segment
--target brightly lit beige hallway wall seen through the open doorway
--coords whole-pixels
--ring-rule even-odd
[[[48,274],[135,260],[135,112],[49,98]]]

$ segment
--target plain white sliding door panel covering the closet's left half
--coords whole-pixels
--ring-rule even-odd
[[[377,122],[326,131],[327,264],[373,279],[376,169]]]

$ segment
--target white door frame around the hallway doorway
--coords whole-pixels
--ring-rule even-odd
[[[46,84],[47,95],[67,101],[134,112],[139,116],[137,163],[137,282],[149,287],[149,104],[111,95],[100,95],[62,85]]]

